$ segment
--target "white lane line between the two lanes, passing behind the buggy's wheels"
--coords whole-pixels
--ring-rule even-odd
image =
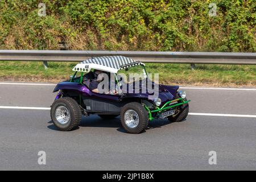
[[[0,109],[51,110],[51,107],[0,106]],[[245,118],[256,118],[256,115],[249,115],[249,114],[188,113],[188,115],[205,115],[205,116],[220,116],[220,117],[245,117]]]

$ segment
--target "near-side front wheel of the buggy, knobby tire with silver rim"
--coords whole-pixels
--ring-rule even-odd
[[[128,133],[141,133],[148,125],[147,111],[138,102],[130,102],[121,109],[121,123]]]

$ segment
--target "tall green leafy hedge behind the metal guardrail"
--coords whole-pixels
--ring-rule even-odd
[[[61,41],[69,49],[255,52],[256,0],[0,2],[0,49],[59,49]]]

